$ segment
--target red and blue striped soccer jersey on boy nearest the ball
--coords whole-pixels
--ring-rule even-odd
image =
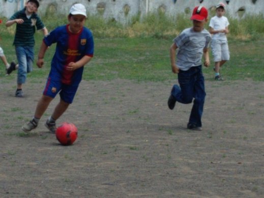
[[[64,84],[78,85],[82,78],[83,67],[75,71],[68,71],[66,67],[70,62],[76,62],[83,56],[93,57],[94,40],[88,28],[82,27],[78,34],[73,34],[68,26],[55,28],[43,39],[47,46],[56,43],[49,78],[61,80]]]

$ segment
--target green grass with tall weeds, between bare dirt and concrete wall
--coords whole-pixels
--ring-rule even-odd
[[[169,19],[162,12],[150,13],[140,19],[134,16],[123,26],[116,21],[106,21],[97,16],[89,16],[86,25],[93,31],[95,37],[94,58],[85,66],[84,80],[112,80],[128,79],[135,81],[170,81],[176,75],[170,69],[169,47],[172,39],[179,32],[191,25],[187,13]],[[50,16],[49,16],[50,17]],[[67,20],[54,21],[44,17],[49,30],[57,25],[67,23]],[[61,17],[63,18],[63,17]],[[228,35],[230,61],[224,64],[221,74],[226,80],[264,81],[262,46],[264,44],[262,15],[248,16],[245,19],[230,21],[230,34]],[[207,24],[208,25],[208,24]],[[15,50],[12,46],[15,26],[1,27],[0,46],[4,49],[8,61],[16,60]],[[35,56],[37,57],[42,42],[41,32],[36,34]],[[55,45],[51,46],[45,55],[45,67],[28,75],[31,83],[42,83],[48,75],[51,58]],[[0,62],[1,63],[1,62]],[[5,75],[4,65],[0,76]],[[207,80],[213,80],[214,65],[211,55],[211,67],[203,67]],[[15,81],[16,76],[11,75],[3,80],[4,83]],[[44,79],[45,80],[45,79]]]

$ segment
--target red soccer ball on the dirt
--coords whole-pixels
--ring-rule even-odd
[[[71,145],[77,139],[78,129],[69,122],[63,122],[56,129],[56,138],[64,146]]]

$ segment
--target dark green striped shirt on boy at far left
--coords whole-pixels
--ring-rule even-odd
[[[23,19],[24,22],[22,24],[16,24],[16,34],[13,45],[15,46],[34,46],[35,39],[34,34],[37,30],[43,29],[45,26],[41,21],[40,17],[33,13],[31,17],[28,19],[25,14],[25,8],[16,12],[13,16],[11,16],[10,20],[14,19]]]

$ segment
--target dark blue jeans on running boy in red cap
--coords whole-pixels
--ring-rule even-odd
[[[194,98],[189,123],[201,127],[203,104],[206,98],[201,65],[192,67],[188,71],[180,70],[178,74],[178,82],[181,88],[179,85],[173,85],[171,95],[177,102],[183,104],[192,103]]]

